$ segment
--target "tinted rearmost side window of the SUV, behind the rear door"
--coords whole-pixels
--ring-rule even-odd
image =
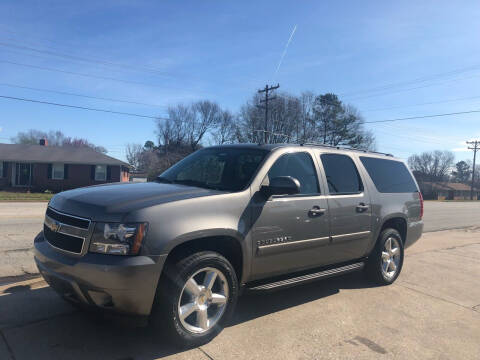
[[[409,193],[417,191],[417,186],[404,163],[363,156],[360,156],[360,160],[379,192]]]

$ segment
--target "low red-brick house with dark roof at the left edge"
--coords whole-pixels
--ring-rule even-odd
[[[88,147],[0,144],[0,189],[59,192],[128,181],[127,163]]]

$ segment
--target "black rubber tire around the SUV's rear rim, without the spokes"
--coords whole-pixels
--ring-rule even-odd
[[[398,264],[395,265],[394,263],[394,265],[396,266],[396,271],[393,274],[393,276],[388,276],[388,274],[385,273],[384,271],[385,263],[382,260],[382,252],[385,250],[385,244],[389,239],[396,240],[396,243],[394,240],[390,240],[390,241],[395,243],[396,245],[398,244],[398,248],[399,248],[399,257],[398,259],[396,259],[398,260]],[[392,284],[400,275],[400,272],[402,271],[403,258],[404,258],[404,248],[403,248],[403,241],[400,233],[395,229],[383,230],[380,233],[380,236],[378,237],[378,241],[375,245],[375,248],[373,249],[372,253],[370,254],[367,260],[366,272],[368,277],[378,285]],[[391,268],[388,267],[388,269],[390,270]]]

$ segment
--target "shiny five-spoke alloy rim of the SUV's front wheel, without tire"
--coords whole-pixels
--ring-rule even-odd
[[[198,270],[187,280],[180,294],[180,322],[192,333],[204,333],[220,320],[227,302],[228,282],[225,275],[211,267]]]

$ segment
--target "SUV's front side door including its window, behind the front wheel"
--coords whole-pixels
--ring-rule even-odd
[[[262,196],[252,204],[255,279],[321,265],[328,258],[327,200],[321,194],[317,168],[309,152],[280,156],[263,184],[277,176],[300,182],[300,194]]]

